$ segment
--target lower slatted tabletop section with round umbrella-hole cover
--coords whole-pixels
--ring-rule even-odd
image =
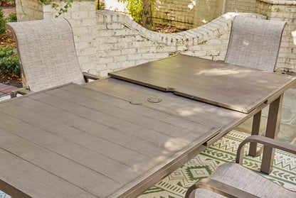
[[[267,104],[245,114],[113,78],[3,101],[0,189],[137,197]]]

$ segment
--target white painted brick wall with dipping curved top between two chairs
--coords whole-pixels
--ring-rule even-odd
[[[98,75],[132,67],[176,53],[211,60],[224,60],[231,21],[238,13],[227,13],[199,28],[181,33],[155,33],[139,26],[125,15],[97,11]],[[264,16],[244,13],[264,18]]]

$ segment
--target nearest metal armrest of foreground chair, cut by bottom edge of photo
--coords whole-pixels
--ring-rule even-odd
[[[238,189],[236,187],[232,187],[230,185],[226,185],[222,182],[218,182],[217,180],[212,180],[210,178],[205,178],[202,180],[199,180],[194,185],[189,187],[185,194],[185,198],[189,198],[189,195],[191,194],[194,189],[203,188],[208,189],[211,192],[215,192],[217,194],[221,194],[225,197],[250,197],[250,198],[258,198],[257,196],[250,194],[248,192],[245,192],[241,189]]]

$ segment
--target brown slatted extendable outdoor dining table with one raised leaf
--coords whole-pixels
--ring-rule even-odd
[[[137,197],[268,104],[276,133],[296,82],[186,55],[110,75],[0,103],[2,191]]]

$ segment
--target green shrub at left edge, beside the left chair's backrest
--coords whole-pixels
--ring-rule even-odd
[[[20,75],[20,67],[16,48],[11,45],[6,47],[0,46],[0,73],[11,73]]]

